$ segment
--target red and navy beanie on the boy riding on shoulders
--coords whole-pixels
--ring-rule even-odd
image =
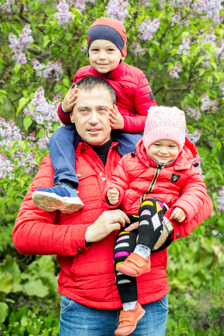
[[[94,40],[108,40],[113,42],[122,52],[127,55],[127,36],[123,23],[110,17],[100,17],[89,28],[87,35],[87,48],[89,56],[89,47]]]

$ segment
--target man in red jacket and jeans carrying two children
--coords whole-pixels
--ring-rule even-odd
[[[48,155],[21,204],[12,239],[22,254],[57,255],[61,266],[60,336],[113,336],[122,307],[115,283],[113,248],[120,224],[130,222],[124,212],[106,211],[101,202],[105,182],[99,174],[110,177],[121,158],[118,143],[110,134],[109,111],[114,92],[106,81],[94,76],[83,78],[77,85],[79,92],[71,120],[81,137],[76,149],[76,173],[85,206],[73,214],[45,212],[34,206],[33,191],[52,185],[53,169]],[[207,203],[211,209],[209,196]],[[201,209],[187,226],[172,221],[174,228],[169,238],[175,240],[189,234],[208,217],[209,213],[204,211]],[[166,241],[168,234],[164,226],[155,249]],[[139,303],[146,314],[133,336],[165,333],[169,289],[166,260],[166,249],[153,253],[151,271],[137,278]]]

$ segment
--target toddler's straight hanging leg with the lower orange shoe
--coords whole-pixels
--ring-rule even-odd
[[[131,220],[131,222],[135,221],[136,219]],[[124,231],[129,225],[130,224],[126,224],[125,227],[121,228],[114,247],[113,259],[115,264],[116,284],[123,304],[123,310],[120,313],[119,326],[115,331],[115,336],[125,336],[132,333],[136,328],[137,322],[145,313],[145,310],[137,302],[138,292],[136,279],[116,270],[116,266],[124,262],[127,256],[134,251],[136,245],[138,231]]]

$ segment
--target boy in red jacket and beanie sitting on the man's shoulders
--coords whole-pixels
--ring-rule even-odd
[[[119,142],[119,153],[122,156],[134,151],[144,131],[147,110],[156,106],[143,72],[124,64],[126,41],[126,30],[120,21],[106,17],[96,20],[87,35],[90,66],[79,69],[74,78],[76,83],[83,77],[97,76],[114,88],[117,106],[114,104],[111,107],[109,119],[111,129],[115,130],[111,135]],[[73,213],[84,206],[76,191],[79,181],[75,172],[74,148],[80,137],[70,119],[77,90],[76,87],[71,88],[58,107],[59,118],[67,127],[56,130],[49,141],[54,185],[51,188],[39,188],[33,193],[35,205],[45,211],[58,209],[64,213]]]

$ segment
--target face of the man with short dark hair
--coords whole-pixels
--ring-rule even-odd
[[[109,112],[112,106],[111,96],[103,87],[91,91],[78,90],[70,117],[85,142],[99,146],[109,141]]]

